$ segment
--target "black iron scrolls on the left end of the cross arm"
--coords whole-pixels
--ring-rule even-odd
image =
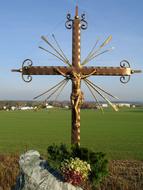
[[[28,68],[32,67],[33,62],[31,59],[26,59],[23,61],[22,63],[22,71],[26,71]],[[22,79],[24,80],[24,82],[31,82],[32,81],[32,76],[31,75],[24,75],[22,73]]]

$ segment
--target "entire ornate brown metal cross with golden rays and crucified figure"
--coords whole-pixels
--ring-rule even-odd
[[[94,92],[98,95],[102,96],[115,110],[117,110],[116,106],[112,104],[109,99],[106,98],[102,93],[114,97],[110,93],[106,92],[102,88],[93,84],[88,77],[89,76],[120,76],[120,81],[126,83],[130,79],[130,75],[133,73],[138,73],[138,70],[132,70],[128,61],[123,60],[120,63],[120,67],[86,67],[84,66],[86,63],[101,55],[109,50],[104,50],[100,52],[100,50],[106,46],[111,40],[111,36],[109,36],[100,46],[95,49],[98,40],[96,41],[95,46],[92,48],[87,58],[81,62],[80,59],[80,32],[81,29],[85,30],[87,28],[87,22],[85,21],[85,14],[82,14],[81,17],[78,15],[78,7],[76,7],[75,17],[71,19],[71,15],[67,14],[67,21],[65,24],[67,29],[72,29],[72,64],[65,56],[64,52],[60,48],[55,36],[53,38],[56,42],[56,45],[59,51],[47,40],[46,37],[42,36],[42,39],[49,45],[50,48],[54,51],[51,52],[45,48],[40,47],[41,49],[47,51],[48,53],[56,56],[62,62],[66,63],[68,66],[32,66],[32,61],[26,59],[23,62],[22,68],[19,70],[12,70],[15,72],[21,72],[22,78],[26,82],[30,82],[32,80],[31,75],[62,75],[65,77],[60,83],[55,85],[50,90],[56,87],[64,87],[68,80],[72,82],[72,93],[71,93],[71,112],[72,112],[72,130],[71,130],[71,143],[72,144],[80,144],[80,107],[83,103],[83,92],[81,91],[81,81],[83,80],[87,85],[88,89],[92,93],[93,97],[98,102]],[[27,79],[25,79],[25,75]],[[40,94],[39,96],[49,92],[50,90]],[[94,91],[94,92],[93,92]],[[37,97],[39,97],[37,96]],[[37,98],[36,97],[36,98]],[[116,97],[114,97],[116,98]],[[101,107],[101,106],[100,106]]]

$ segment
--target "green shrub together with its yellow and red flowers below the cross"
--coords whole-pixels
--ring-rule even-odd
[[[51,145],[47,149],[51,167],[61,171],[66,182],[84,189],[95,189],[108,174],[108,161],[102,152],[74,145]]]

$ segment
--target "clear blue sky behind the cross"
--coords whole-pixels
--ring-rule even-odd
[[[35,66],[62,65],[38,48],[46,47],[41,35],[52,39],[52,33],[71,59],[71,31],[64,25],[67,12],[74,16],[76,4],[79,14],[84,12],[88,21],[88,29],[81,34],[82,58],[98,37],[101,43],[109,35],[113,37],[108,47],[115,49],[89,66],[119,66],[121,60],[127,59],[133,69],[143,70],[142,0],[0,0],[0,100],[31,100],[62,79],[33,76],[31,83],[25,83],[11,69],[20,68],[26,58],[32,59]],[[120,100],[143,101],[143,74],[132,75],[126,85],[120,83],[119,77],[91,77],[91,80]],[[69,83],[60,99],[69,99],[70,90]],[[92,100],[85,86],[83,91],[85,99]]]

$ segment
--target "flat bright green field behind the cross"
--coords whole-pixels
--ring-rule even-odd
[[[36,149],[52,143],[70,145],[70,110],[1,111],[0,153]],[[105,152],[110,159],[143,160],[143,109],[81,111],[81,146]]]

